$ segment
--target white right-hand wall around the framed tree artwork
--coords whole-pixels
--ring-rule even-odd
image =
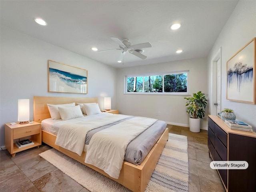
[[[256,1],[239,1],[230,18],[226,22],[208,56],[208,68],[211,69],[212,60],[219,48],[222,48],[222,83],[221,108],[231,108],[236,118],[247,122],[256,131],[256,105],[226,100],[226,62],[238,50],[244,47],[252,38],[256,37]],[[254,69],[255,70],[255,69]],[[211,90],[211,71],[208,71],[208,92]],[[209,100],[212,98],[209,95]],[[213,101],[215,102],[215,101]],[[214,106],[210,106],[214,107]],[[210,113],[210,112],[209,112]]]

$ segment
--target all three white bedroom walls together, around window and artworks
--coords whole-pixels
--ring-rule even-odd
[[[110,96],[112,108],[119,109],[122,114],[147,116],[174,125],[188,126],[189,115],[186,113],[184,95],[124,94],[124,76],[190,70],[190,94],[201,90],[208,96],[212,84],[211,71],[208,69],[211,69],[212,60],[220,47],[222,109],[234,109],[237,119],[251,124],[256,131],[256,105],[226,100],[226,61],[256,37],[255,10],[256,1],[238,2],[207,59],[197,58],[118,70],[1,26],[0,146],[4,146],[4,124],[18,120],[18,99],[30,99],[30,118],[33,118],[33,96],[98,97],[101,108],[102,98]],[[49,93],[48,59],[88,70],[88,94]],[[208,101],[212,102],[211,95],[208,96]],[[211,107],[208,106],[209,109]],[[156,112],[160,112],[160,116]],[[207,118],[201,122],[201,128],[207,129]]]

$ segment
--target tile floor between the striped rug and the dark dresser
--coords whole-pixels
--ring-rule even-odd
[[[210,168],[208,132],[190,132],[187,127],[168,125],[170,133],[188,137],[189,192],[225,192],[217,170]]]

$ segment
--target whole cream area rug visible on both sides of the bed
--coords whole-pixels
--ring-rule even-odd
[[[55,149],[39,154],[91,192],[130,192],[129,189]],[[94,182],[91,182],[91,181]],[[145,192],[188,192],[188,141],[170,134]]]

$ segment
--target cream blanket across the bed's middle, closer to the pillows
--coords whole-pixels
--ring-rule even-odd
[[[67,121],[57,122],[60,126],[55,144],[82,155],[86,134],[95,128],[128,118],[128,115],[102,113]]]

